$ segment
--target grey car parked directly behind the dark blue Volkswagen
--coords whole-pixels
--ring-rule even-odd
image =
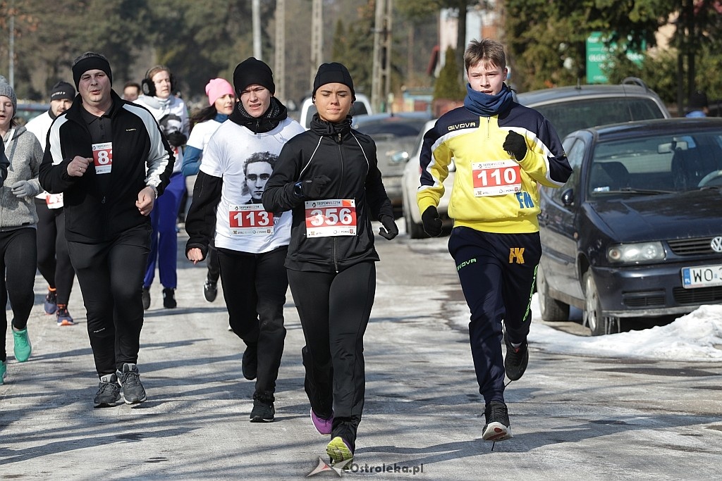
[[[516,95],[516,100],[544,115],[554,125],[559,138],[595,125],[671,118],[656,92],[636,77],[627,77],[619,85],[579,85],[523,92]]]

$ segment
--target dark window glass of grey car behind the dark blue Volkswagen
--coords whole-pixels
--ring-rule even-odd
[[[575,99],[538,105],[534,109],[554,125],[560,138],[595,125],[664,118],[653,100],[640,97]]]

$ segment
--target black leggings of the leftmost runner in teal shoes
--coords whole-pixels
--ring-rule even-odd
[[[35,265],[38,249],[35,246],[35,228],[22,227],[0,232],[0,329],[3,332],[0,345],[0,361],[7,361],[5,336],[7,314],[5,306],[10,299],[12,325],[17,330],[27,327],[32,303],[35,301]]]

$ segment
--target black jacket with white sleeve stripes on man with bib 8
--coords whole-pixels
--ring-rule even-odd
[[[175,157],[153,115],[111,91],[110,122],[113,167],[108,182],[97,182],[91,163],[82,177],[68,175],[75,156],[92,158],[90,131],[82,118],[82,98],[53,122],[40,164],[40,185],[64,193],[65,234],[71,242],[94,244],[115,239],[136,226],[150,226],[150,216],[136,207],[138,193],[152,186],[160,196],[173,172]],[[105,185],[105,187],[103,187]]]

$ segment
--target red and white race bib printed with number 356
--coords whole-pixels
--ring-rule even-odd
[[[305,202],[306,237],[355,236],[356,200],[328,199]]]

